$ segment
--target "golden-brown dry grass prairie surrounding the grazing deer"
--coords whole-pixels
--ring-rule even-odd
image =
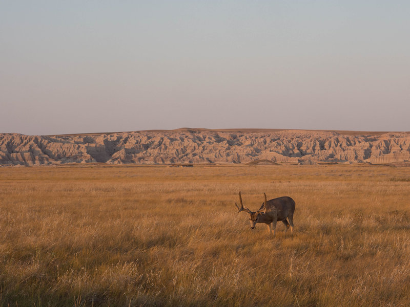
[[[268,199],[294,233],[250,229]],[[409,306],[410,168],[0,168],[0,306]]]

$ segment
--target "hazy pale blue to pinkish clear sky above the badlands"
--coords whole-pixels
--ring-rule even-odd
[[[0,133],[410,130],[408,1],[0,1]]]

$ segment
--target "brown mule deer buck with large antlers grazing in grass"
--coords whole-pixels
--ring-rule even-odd
[[[249,214],[249,221],[251,222],[251,228],[254,229],[257,223],[264,223],[268,225],[268,232],[275,235],[276,222],[282,222],[286,226],[286,231],[291,228],[293,233],[293,213],[295,212],[295,201],[289,196],[282,196],[276,199],[267,200],[266,193],[263,193],[265,200],[262,206],[256,212],[252,212],[247,207],[243,207],[242,196],[239,192],[240,208],[238,213],[245,211]],[[286,220],[288,218],[288,220]]]

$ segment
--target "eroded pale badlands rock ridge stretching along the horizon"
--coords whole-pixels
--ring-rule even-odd
[[[410,134],[189,128],[61,136],[0,134],[0,165],[257,160],[299,164],[407,162]]]

